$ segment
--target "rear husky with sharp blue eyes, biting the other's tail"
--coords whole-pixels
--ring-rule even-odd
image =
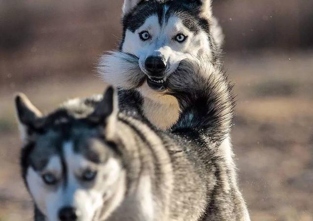
[[[131,100],[134,89],[139,91],[143,114],[167,129],[177,122],[180,111],[177,99],[163,93],[167,78],[185,59],[205,58],[203,63],[221,66],[222,44],[211,0],[125,0],[119,52],[103,55],[98,71],[104,81],[121,89],[122,105]],[[124,59],[128,55],[134,57],[131,62]],[[146,77],[138,78],[142,72]],[[229,135],[221,149],[234,167]]]

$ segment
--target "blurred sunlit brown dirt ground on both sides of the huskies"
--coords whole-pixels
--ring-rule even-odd
[[[238,95],[232,138],[251,220],[313,221],[313,53],[229,54],[226,66]],[[0,88],[0,221],[32,218],[20,178],[14,93],[48,111],[103,88],[91,71]]]

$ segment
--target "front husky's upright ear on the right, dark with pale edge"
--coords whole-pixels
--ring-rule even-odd
[[[110,86],[104,92],[103,99],[89,115],[89,120],[100,125],[105,125],[105,136],[106,139],[110,140],[115,134],[117,113],[117,94],[115,89]]]

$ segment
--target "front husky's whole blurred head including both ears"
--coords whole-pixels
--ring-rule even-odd
[[[23,95],[16,106],[25,129],[23,178],[47,221],[107,217],[125,193],[121,156],[108,141],[112,107],[100,102],[89,116],[75,118],[64,110],[43,117]]]

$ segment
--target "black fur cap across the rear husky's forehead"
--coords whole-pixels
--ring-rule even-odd
[[[164,7],[168,7],[168,11],[165,15],[165,21],[163,15],[160,16],[160,11],[164,10]],[[128,14],[122,18],[122,40],[119,45],[119,50],[122,50],[122,46],[125,41],[126,30],[129,29],[132,32],[137,30],[151,15],[157,15],[159,23],[166,23],[168,19],[174,15],[178,16],[183,25],[186,26],[191,32],[195,34],[203,30],[209,39],[209,47],[212,53],[212,59],[210,63],[223,66],[221,63],[222,47],[217,43],[217,39],[211,35],[211,24],[208,18],[201,17],[201,0],[142,0],[140,3]]]

